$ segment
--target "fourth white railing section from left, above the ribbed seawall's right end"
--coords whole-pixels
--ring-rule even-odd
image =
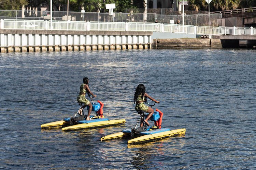
[[[161,32],[161,23],[128,22],[129,31]]]

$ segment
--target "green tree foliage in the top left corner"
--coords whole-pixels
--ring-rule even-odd
[[[26,0],[0,0],[0,10],[21,10],[27,3]]]

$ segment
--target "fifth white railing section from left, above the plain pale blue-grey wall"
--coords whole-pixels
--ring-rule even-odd
[[[179,24],[163,24],[164,32],[195,34],[195,26]]]

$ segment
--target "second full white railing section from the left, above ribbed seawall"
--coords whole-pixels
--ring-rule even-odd
[[[77,30],[86,31],[83,21],[48,21],[48,30]]]

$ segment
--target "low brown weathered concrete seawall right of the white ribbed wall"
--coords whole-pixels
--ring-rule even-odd
[[[222,48],[220,39],[154,39],[154,49],[198,49],[198,48]]]

